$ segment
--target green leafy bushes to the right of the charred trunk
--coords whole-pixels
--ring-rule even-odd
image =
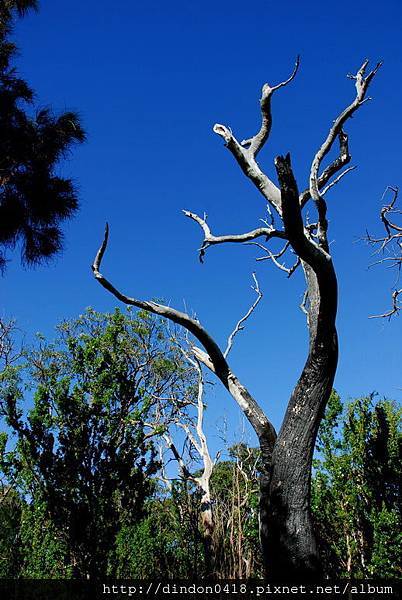
[[[317,440],[312,510],[334,576],[401,574],[400,417],[395,403],[374,395],[345,408],[331,396]]]

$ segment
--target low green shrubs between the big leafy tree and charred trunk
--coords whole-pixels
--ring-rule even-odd
[[[258,459],[256,449],[236,444],[228,460],[215,465],[212,540],[205,538],[199,489],[188,480],[176,481],[166,496],[146,502],[144,519],[120,530],[109,573],[122,578],[260,575]]]

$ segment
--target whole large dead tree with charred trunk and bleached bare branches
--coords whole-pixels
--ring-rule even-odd
[[[120,301],[148,310],[182,325],[203,348],[194,346],[198,360],[220,379],[254,428],[260,444],[262,474],[260,489],[260,534],[263,561],[271,578],[309,578],[321,574],[317,544],[310,515],[310,477],[314,443],[325,405],[329,398],[338,362],[338,341],[335,326],[337,313],[337,279],[328,243],[326,192],[351,167],[348,136],[344,125],[367,101],[367,90],[380,67],[367,72],[365,60],[355,75],[356,94],[353,101],[333,121],[328,135],[313,157],[309,187],[299,193],[287,156],[275,159],[279,186],[264,173],[257,155],[268,140],[271,125],[271,99],[276,91],[295,77],[299,60],[291,76],[282,83],[262,88],[261,126],[253,137],[239,142],[225,125],[215,125],[246,177],[256,186],[267,202],[269,220],[264,227],[235,235],[214,235],[206,217],[184,211],[202,228],[204,240],[201,261],[212,245],[253,243],[264,251],[264,258],[280,265],[288,275],[302,267],[307,289],[303,308],[307,315],[309,348],[306,363],[290,397],[282,427],[278,433],[267,415],[230,368],[227,351],[222,351],[205,327],[195,318],[169,306],[132,298],[119,291],[100,272],[108,242],[106,227],[103,243],[95,257],[93,272],[97,281]],[[322,169],[325,157],[339,142],[339,156]],[[346,168],[345,168],[346,167]],[[312,202],[317,218],[309,222],[303,213]],[[278,222],[278,225],[277,225]],[[273,253],[265,244],[273,239],[283,241],[283,249]],[[263,243],[261,243],[261,240]],[[279,262],[286,252],[296,257],[293,266]]]

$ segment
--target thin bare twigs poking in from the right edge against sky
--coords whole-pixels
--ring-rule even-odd
[[[373,237],[367,232],[366,241],[371,246],[376,248],[377,255],[381,255],[381,258],[379,258],[373,264],[386,264],[391,269],[395,269],[396,281],[391,294],[391,308],[380,315],[373,315],[370,317],[371,319],[391,319],[393,315],[399,314],[399,311],[402,308],[400,301],[400,296],[402,296],[402,288],[399,288],[399,278],[402,268],[402,225],[400,223],[400,215],[402,214],[402,210],[398,208],[397,205],[399,189],[389,185],[383,194],[383,199],[388,192],[392,193],[391,201],[382,206],[380,212],[381,222],[385,230],[384,234],[379,237]]]

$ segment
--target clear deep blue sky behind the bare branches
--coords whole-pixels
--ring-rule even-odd
[[[19,69],[39,104],[82,116],[88,142],[61,169],[76,180],[81,209],[65,227],[64,254],[50,266],[27,271],[12,257],[2,315],[17,318],[28,334],[53,335],[57,322],[87,306],[112,309],[115,300],[90,271],[106,220],[105,274],[137,297],[178,308],[185,300],[222,343],[253,299],[256,269],[265,297],[238,336],[231,364],[278,426],[306,355],[302,273],[288,281],[240,246],[212,248],[200,265],[200,230],[181,209],[206,211],[216,233],[258,226],[262,197],[212,125],[230,125],[241,139],[253,134],[261,85],[286,78],[300,53],[296,80],[274,98],[273,132],[260,161],[273,173],[273,157],[290,151],[304,188],[314,152],[353,97],[346,74],[365,57],[382,59],[373,101],[347,125],[358,170],[328,196],[340,286],[335,385],[344,398],[373,390],[400,398],[402,321],[368,319],[388,307],[394,274],[368,270],[370,250],[356,240],[366,228],[380,229],[384,188],[402,186],[401,3],[40,4],[16,30]],[[233,400],[218,383],[209,404],[211,426],[227,415],[237,427]]]

